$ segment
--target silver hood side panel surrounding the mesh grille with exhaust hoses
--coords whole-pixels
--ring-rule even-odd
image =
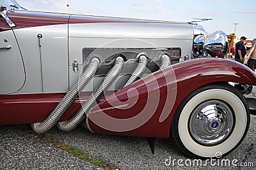
[[[84,47],[96,48],[163,48],[180,47],[181,56],[191,58],[193,27],[188,24],[162,23],[93,23],[70,24],[69,33],[70,86],[76,82],[79,72],[72,72],[72,62],[83,65]],[[80,73],[81,74],[81,73]],[[120,76],[118,79],[120,79]],[[97,80],[98,79],[98,80]],[[94,78],[100,82],[102,77]],[[91,85],[91,86],[90,86]],[[92,91],[99,84],[90,82],[84,91]],[[121,84],[111,86],[116,89]]]

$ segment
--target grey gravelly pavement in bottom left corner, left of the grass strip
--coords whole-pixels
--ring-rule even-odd
[[[23,126],[0,126],[0,132],[0,169],[97,168],[52,144],[35,139]]]

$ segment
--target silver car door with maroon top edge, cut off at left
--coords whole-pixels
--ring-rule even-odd
[[[12,94],[24,86],[25,69],[13,30],[0,19],[0,94]]]

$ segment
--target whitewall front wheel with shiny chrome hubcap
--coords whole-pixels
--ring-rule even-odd
[[[192,158],[220,157],[243,141],[250,124],[245,98],[229,84],[208,84],[184,98],[173,115],[173,142]]]

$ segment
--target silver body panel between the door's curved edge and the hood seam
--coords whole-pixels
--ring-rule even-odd
[[[24,87],[17,93],[67,92],[67,29],[67,25],[15,29],[27,77]],[[41,47],[39,33],[43,35]]]

